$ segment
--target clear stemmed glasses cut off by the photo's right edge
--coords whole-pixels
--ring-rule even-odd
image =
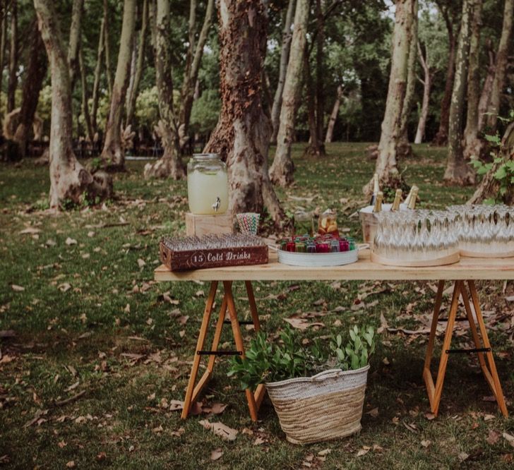
[[[514,207],[507,205],[452,205],[459,248],[464,255],[514,254]]]

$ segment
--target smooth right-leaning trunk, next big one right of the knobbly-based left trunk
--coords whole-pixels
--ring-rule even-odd
[[[128,87],[128,73],[131,66],[131,46],[133,44],[134,25],[136,23],[136,0],[124,0],[123,26],[119,40],[118,64],[112,85],[111,108],[105,131],[102,165],[110,170],[125,168],[125,152],[121,146],[121,118]],[[107,25],[107,23],[106,23]]]

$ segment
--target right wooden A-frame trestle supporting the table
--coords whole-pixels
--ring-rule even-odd
[[[494,397],[496,397],[498,407],[500,408],[500,411],[503,414],[503,416],[508,416],[507,406],[505,403],[505,399],[503,397],[503,392],[501,390],[500,379],[498,378],[496,365],[494,363],[493,352],[491,351],[491,344],[489,343],[489,337],[487,335],[486,326],[484,324],[484,318],[482,317],[482,311],[480,309],[477,289],[474,285],[474,281],[467,281],[467,284],[470,289],[470,295],[468,295],[467,289],[465,287],[465,281],[455,281],[453,287],[453,296],[452,301],[450,303],[450,311],[448,313],[448,323],[446,326],[443,348],[441,350],[441,359],[439,361],[436,383],[434,384],[434,379],[432,378],[432,374],[430,371],[430,363],[432,353],[434,352],[437,323],[439,320],[439,313],[441,311],[441,301],[443,299],[444,281],[439,281],[438,283],[436,302],[434,304],[434,315],[432,317],[430,329],[429,344],[426,348],[426,357],[423,368],[423,378],[426,384],[426,391],[429,395],[430,408],[432,413],[434,413],[437,416],[439,411],[439,404],[441,402],[441,394],[443,392],[443,383],[446,374],[446,366],[448,365],[448,356],[452,353],[477,353],[480,368],[482,368],[482,373],[484,373],[486,382],[489,384],[489,387],[491,388]],[[462,301],[464,303],[466,311],[465,318],[457,318],[460,296],[462,296]],[[474,312],[477,317],[477,323],[479,325],[482,342],[480,341],[477,327],[474,323],[470,299],[473,303]],[[474,349],[450,349],[451,339],[453,335],[453,327],[455,326],[456,320],[467,320],[467,322],[470,324],[470,330],[475,345]],[[486,356],[487,358],[487,363],[485,361],[484,356]]]

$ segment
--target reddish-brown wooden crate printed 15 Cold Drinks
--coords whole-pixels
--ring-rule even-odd
[[[161,242],[159,252],[162,263],[172,271],[268,263],[268,246],[266,245],[172,251]]]

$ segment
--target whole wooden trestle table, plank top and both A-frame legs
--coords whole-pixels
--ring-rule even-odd
[[[205,281],[210,282],[210,290],[205,303],[205,311],[198,334],[193,366],[189,377],[189,384],[184,399],[184,409],[181,417],[187,418],[191,410],[191,403],[196,400],[203,386],[213,373],[216,356],[225,354],[239,354],[244,356],[244,344],[241,336],[241,322],[237,318],[237,311],[232,294],[232,283],[244,281],[248,294],[251,322],[255,330],[259,330],[259,319],[255,297],[253,296],[252,281],[332,281],[332,280],[381,280],[381,281],[422,281],[438,280],[438,289],[434,301],[434,315],[431,322],[429,344],[426,349],[426,357],[423,368],[423,378],[426,384],[426,391],[429,395],[430,408],[433,414],[438,414],[441,392],[443,391],[444,376],[448,364],[448,356],[453,352],[477,353],[480,367],[484,373],[486,382],[496,397],[496,402],[503,416],[508,416],[507,406],[501,390],[501,383],[494,363],[493,351],[489,343],[484,318],[480,309],[480,303],[475,288],[476,279],[514,279],[514,260],[509,258],[461,258],[459,263],[446,266],[434,267],[395,267],[378,265],[372,263],[369,250],[359,253],[357,263],[337,267],[297,267],[284,265],[277,262],[277,255],[270,251],[270,260],[267,265],[217,267],[205,270],[191,270],[186,272],[172,272],[161,265],[155,269],[155,280],[158,282],[170,281]],[[432,378],[430,363],[434,351],[436,330],[440,320],[441,302],[445,282],[453,282],[453,296],[448,312],[446,333],[441,350],[436,382]],[[220,308],[220,315],[214,331],[213,343],[210,350],[204,350],[205,339],[210,326],[210,318],[215,305],[215,296],[219,283],[223,285],[223,298]],[[465,317],[458,318],[459,300],[462,297]],[[225,320],[225,314],[229,313],[230,320]],[[474,312],[473,312],[474,311]],[[473,315],[474,313],[474,315]],[[475,325],[474,318],[477,319]],[[470,324],[472,339],[475,345],[473,349],[450,349],[455,320],[467,320]],[[218,351],[222,327],[224,323],[232,325],[234,342],[237,351]],[[202,356],[209,356],[207,368],[203,376],[196,383],[198,368]],[[261,405],[265,389],[263,385],[255,391],[246,390],[250,416],[253,421],[257,419],[258,408]]]

